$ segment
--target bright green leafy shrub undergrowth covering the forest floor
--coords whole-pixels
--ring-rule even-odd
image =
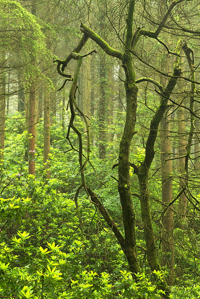
[[[18,126],[20,129],[20,122]],[[7,127],[9,128],[9,123]],[[163,291],[159,289],[159,282],[164,275],[167,277],[169,270],[164,266],[162,271],[152,273],[146,263],[139,199],[133,197],[137,215],[137,254],[142,274],[138,273],[138,280],[133,280],[120,245],[107,227],[98,207],[88,201],[84,192],[79,196],[84,233],[82,241],[74,203],[74,195],[80,184],[78,153],[70,151],[63,155],[69,149],[64,138],[65,130],[59,125],[52,129],[51,139],[55,141],[50,156],[51,179],[45,179],[43,171],[42,134],[38,135],[36,148],[36,176],[28,174],[28,162],[24,160],[25,134],[26,132],[9,133],[5,142],[5,161],[4,164],[1,163],[1,296],[160,298]],[[57,139],[60,140],[56,141]],[[77,142],[74,136],[74,146]],[[109,160],[102,161],[97,158],[96,148],[91,151],[99,181],[89,165],[86,179],[99,194],[103,205],[123,233],[117,182],[111,177],[117,176],[116,170],[112,170],[117,153],[112,150]],[[138,150],[140,158],[141,154]],[[134,175],[132,176],[131,171],[130,174],[134,193],[138,190],[134,188]],[[168,259],[167,256],[163,257],[159,237],[161,182],[157,180],[155,189],[152,190],[152,219],[158,255]],[[178,192],[178,188],[175,192]],[[192,206],[188,213],[194,215]],[[176,223],[175,283],[171,287],[170,298],[200,298],[199,220],[190,218],[185,222],[185,219],[177,216]],[[189,248],[192,252],[187,250]]]

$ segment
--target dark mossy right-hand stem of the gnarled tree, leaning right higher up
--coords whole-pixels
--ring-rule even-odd
[[[179,52],[180,49],[180,42],[177,45],[177,51]],[[151,218],[151,209],[150,209],[150,194],[149,194],[149,168],[152,164],[155,151],[154,151],[154,144],[158,133],[158,125],[164,115],[164,112],[167,108],[167,101],[170,97],[172,90],[174,89],[177,76],[181,74],[181,68],[178,66],[178,58],[174,62],[174,70],[173,75],[169,79],[166,89],[162,91],[160,106],[157,108],[150,124],[150,132],[149,136],[146,141],[146,151],[145,151],[145,158],[141,163],[140,168],[138,169],[138,180],[140,184],[140,200],[141,200],[141,216],[142,221],[144,224],[144,237],[146,241],[146,256],[149,263],[151,270],[161,270],[160,263],[157,257],[157,250],[155,244],[155,236],[154,230],[152,225],[152,218]],[[163,279],[162,290],[168,290],[167,283],[165,279]],[[169,295],[168,291],[166,291],[166,295],[164,296],[167,298]]]

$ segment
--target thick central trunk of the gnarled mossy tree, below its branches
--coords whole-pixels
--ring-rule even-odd
[[[129,154],[130,145],[135,132],[136,107],[138,87],[132,85],[127,86],[127,107],[126,107],[126,122],[123,131],[123,136],[120,141],[119,160],[118,160],[118,191],[122,206],[123,225],[125,232],[124,254],[129,263],[129,269],[132,273],[140,272],[136,254],[136,239],[135,239],[135,210],[133,207],[132,196],[129,182]]]

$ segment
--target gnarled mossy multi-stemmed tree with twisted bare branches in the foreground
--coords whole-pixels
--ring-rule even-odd
[[[164,16],[162,16],[161,21],[158,22],[158,24],[155,24],[155,26],[157,25],[157,29],[155,29],[155,31],[149,31],[138,27],[136,28],[135,32],[133,32],[133,15],[134,15],[135,1],[129,1],[128,13],[126,18],[126,39],[125,42],[123,43],[123,51],[115,50],[114,48],[110,47],[105,40],[103,40],[93,30],[91,30],[90,28],[88,28],[86,25],[82,23],[81,31],[84,33],[84,38],[81,39],[79,45],[74,49],[73,52],[75,53],[73,55],[72,54],[69,55],[65,60],[56,60],[56,62],[58,62],[58,70],[62,65],[62,71],[59,70],[59,74],[61,74],[63,77],[67,77],[68,75],[64,73],[64,69],[68,61],[71,58],[75,57],[74,59],[77,59],[77,61],[79,60],[79,63],[81,63],[80,61],[82,59],[82,56],[80,57],[80,54],[76,54],[76,53],[80,52],[82,46],[85,43],[85,40],[90,38],[94,42],[96,42],[106,52],[106,54],[116,57],[118,60],[122,61],[122,67],[124,69],[125,77],[126,77],[124,82],[125,90],[126,90],[126,101],[127,101],[126,121],[125,121],[123,136],[120,142],[119,160],[118,163],[115,165],[115,167],[118,166],[118,174],[119,174],[118,191],[120,194],[120,200],[122,205],[123,224],[125,230],[124,243],[121,241],[121,236],[119,232],[118,231],[116,232],[116,227],[113,229],[113,232],[122,246],[122,249],[129,263],[129,268],[132,271],[132,273],[137,273],[138,271],[140,271],[140,269],[138,266],[137,255],[136,255],[135,211],[132,204],[131,190],[129,184],[130,165],[134,168],[134,172],[138,175],[138,180],[139,180],[139,186],[140,186],[139,197],[141,201],[141,216],[144,225],[147,260],[152,271],[161,270],[161,266],[157,258],[155,236],[154,236],[153,225],[151,220],[149,182],[148,182],[149,168],[152,164],[154,154],[155,154],[154,144],[158,133],[158,125],[161,121],[161,118],[164,115],[164,112],[166,111],[167,101],[170,98],[170,94],[172,93],[178,78],[181,77],[182,72],[181,72],[181,68],[179,67],[181,41],[178,41],[175,52],[171,52],[168,49],[167,45],[164,42],[162,42],[160,39],[158,39],[158,36],[161,33],[161,30],[165,26],[166,27],[168,26],[166,25],[167,19],[170,17],[170,13],[175,8],[176,4],[179,3],[180,5],[181,2],[182,1],[173,2],[170,5],[170,7],[167,8],[167,11],[166,13],[164,13]],[[162,45],[165,46],[169,54],[173,54],[175,56],[172,75],[168,76],[169,79],[165,88],[154,79],[143,77],[141,79],[136,80],[135,78],[135,71],[133,65],[134,57],[137,57],[143,63],[145,63],[145,61],[143,61],[140,57],[138,57],[137,54],[135,54],[134,52],[136,45],[138,44],[141,36],[148,36],[152,39],[155,39],[156,41],[160,42]],[[78,70],[76,69],[76,76],[77,74],[78,74]],[[130,145],[131,145],[133,135],[137,133],[135,131],[137,93],[138,93],[138,87],[136,84],[143,81],[148,81],[150,83],[155,84],[155,86],[158,87],[158,89],[160,90],[159,93],[161,94],[161,101],[160,101],[160,105],[156,109],[155,114],[153,115],[151,120],[149,135],[146,140],[146,153],[145,153],[144,160],[141,162],[141,166],[137,167],[134,163],[130,163],[129,153],[130,153]],[[73,83],[73,85],[75,84],[76,81],[75,83]],[[74,87],[73,92],[75,91],[76,88]],[[79,108],[77,107],[74,101],[74,95],[71,94],[71,97],[72,97],[71,112],[74,111],[73,105],[75,105],[76,109],[79,111]],[[72,114],[74,115],[74,112]],[[76,129],[74,128],[72,123],[73,122],[70,123],[70,126],[76,132]],[[80,132],[77,132],[77,134],[79,135],[79,140],[80,140],[81,139]],[[188,152],[190,147],[191,147],[191,143],[188,145]],[[79,155],[82,156],[81,151],[79,151]],[[88,158],[86,159],[86,161],[88,161]],[[86,162],[83,165],[80,165],[81,170],[84,169],[85,164]],[[82,179],[83,179],[83,185],[85,186],[83,173],[82,173]],[[85,189],[90,196],[95,197],[94,193],[92,193],[92,191],[89,188],[86,188],[85,186]],[[106,217],[107,216],[105,216],[105,219]],[[109,224],[110,221],[109,217],[107,218],[106,221]],[[163,281],[162,289],[168,290],[167,283],[165,282],[165,280]],[[167,295],[168,295],[168,291],[166,291],[165,296]]]

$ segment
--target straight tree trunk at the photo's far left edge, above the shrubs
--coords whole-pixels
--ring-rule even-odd
[[[0,162],[4,160],[4,139],[5,139],[5,109],[6,109],[6,77],[5,77],[5,60],[4,51],[0,51]]]

